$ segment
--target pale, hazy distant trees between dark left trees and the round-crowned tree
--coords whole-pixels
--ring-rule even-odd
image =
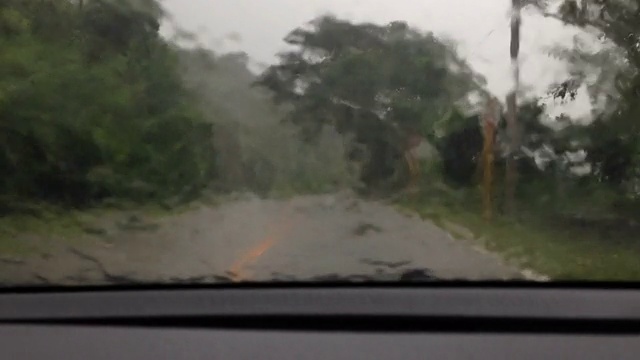
[[[246,54],[199,49],[180,58],[186,83],[216,126],[219,190],[267,195],[353,185],[343,137],[325,128],[314,143],[301,141],[268,91],[251,86],[256,75]]]

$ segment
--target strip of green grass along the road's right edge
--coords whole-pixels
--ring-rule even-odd
[[[640,280],[640,239],[635,232],[573,226],[550,221],[550,214],[540,213],[487,222],[480,216],[477,201],[451,199],[442,193],[423,192],[400,200],[399,205],[430,219],[454,237],[472,241],[552,280]],[[471,238],[463,234],[465,231],[456,231],[452,223],[469,229]]]

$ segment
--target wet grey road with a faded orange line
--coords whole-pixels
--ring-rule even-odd
[[[348,193],[246,197],[161,220],[134,216],[128,222],[83,241],[48,241],[28,257],[5,258],[0,281],[523,278],[498,256],[454,240],[428,221]]]

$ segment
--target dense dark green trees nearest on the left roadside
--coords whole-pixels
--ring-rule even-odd
[[[83,205],[193,195],[212,127],[158,34],[155,1],[0,4],[0,194]]]

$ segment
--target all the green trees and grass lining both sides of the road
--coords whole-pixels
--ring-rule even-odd
[[[554,279],[637,280],[637,4],[566,0],[550,12],[543,3],[532,2],[599,46],[550,49],[571,75],[522,97],[515,211],[504,206],[501,122],[486,221],[479,124],[491,94],[449,39],[402,21],[320,16],[292,29],[289,50],[256,74],[244,53],[162,37],[155,0],[3,1],[0,253],[22,251],[25,231],[91,232],[83,216],[103,211],[163,215],[236,192],[351,188],[393,196]],[[544,99],[571,102],[579,91],[591,122],[548,115]],[[431,150],[405,193],[416,138]]]

